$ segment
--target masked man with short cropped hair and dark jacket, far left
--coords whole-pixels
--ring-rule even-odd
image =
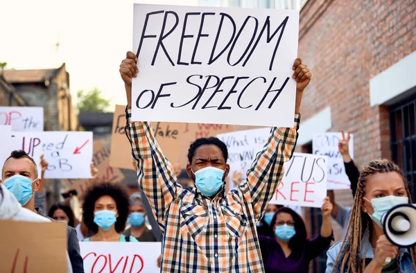
[[[3,164],[0,183],[15,195],[25,209],[37,213],[35,209],[35,192],[39,190],[42,179],[37,176],[37,166],[24,150],[15,150]],[[73,272],[83,273],[83,258],[76,231],[67,226],[68,254]]]

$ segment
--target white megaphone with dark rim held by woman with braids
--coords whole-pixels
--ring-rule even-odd
[[[416,245],[416,207],[399,204],[383,215],[381,220],[385,237],[398,247]]]

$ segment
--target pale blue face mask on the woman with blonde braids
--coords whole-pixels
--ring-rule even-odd
[[[383,224],[381,222],[383,220],[383,215],[385,213],[387,213],[390,209],[392,209],[393,206],[397,206],[399,204],[408,204],[409,202],[408,197],[395,196],[395,195],[388,195],[385,197],[373,198],[371,201],[365,197],[363,198],[364,200],[371,202],[372,207],[374,209],[374,213],[372,215],[368,213],[368,215],[381,228],[383,227]]]

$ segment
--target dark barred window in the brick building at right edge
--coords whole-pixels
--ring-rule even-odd
[[[404,171],[416,201],[416,98],[390,108],[390,141],[392,160]]]

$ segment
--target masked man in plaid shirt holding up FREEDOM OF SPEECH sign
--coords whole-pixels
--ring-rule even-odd
[[[139,168],[139,186],[164,233],[162,272],[263,272],[256,223],[275,193],[297,140],[300,102],[311,72],[302,60],[293,64],[297,82],[293,127],[274,127],[257,155],[247,179],[225,195],[229,173],[227,146],[216,138],[197,139],[189,148],[187,173],[191,191],[176,183],[173,166],[164,157],[147,122],[131,121],[132,78],[137,57],[128,52],[120,65],[128,100],[125,132]]]

